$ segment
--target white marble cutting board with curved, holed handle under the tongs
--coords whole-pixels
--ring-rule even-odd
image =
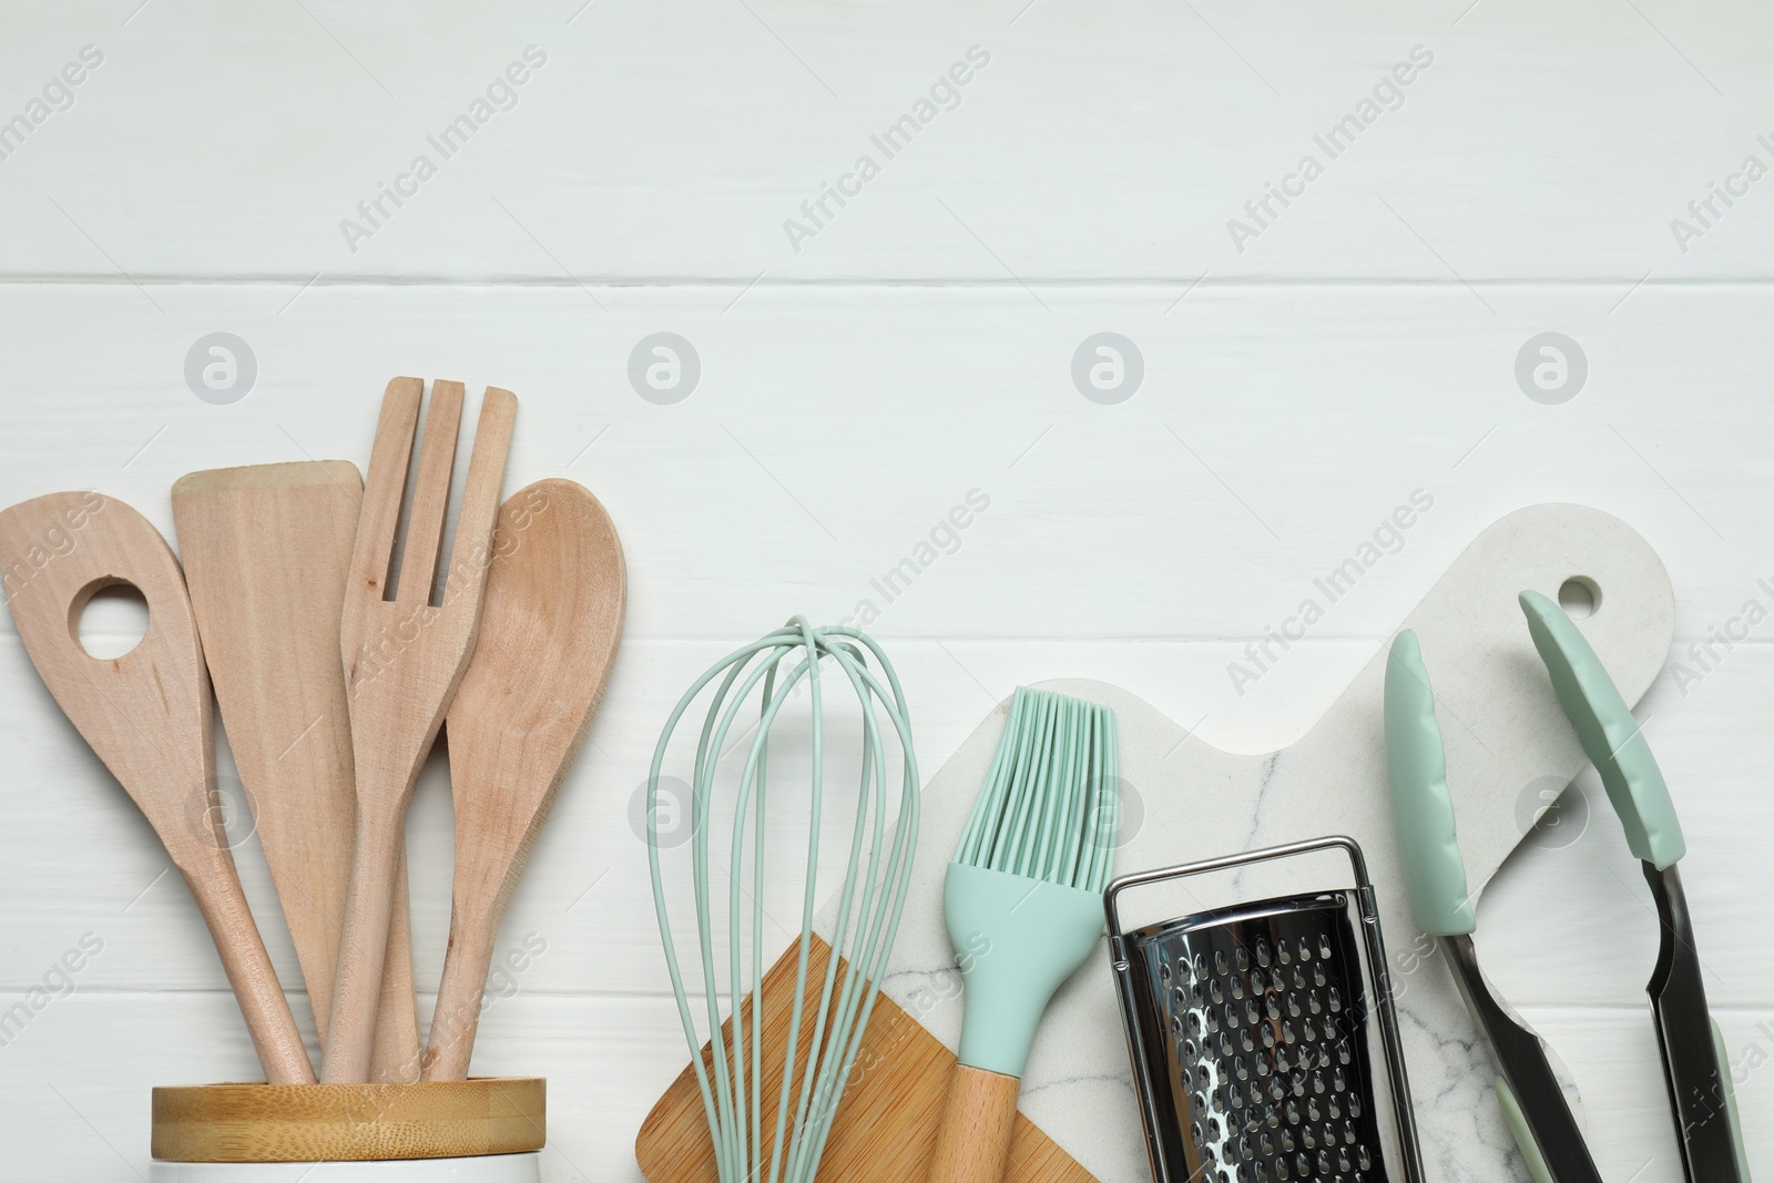
[[[1579,628],[1627,702],[1637,702],[1669,651],[1675,601],[1650,544],[1597,509],[1533,505],[1511,513],[1480,534],[1400,623],[1423,640],[1474,892],[1524,839],[1543,809],[1545,787],[1568,782],[1586,763],[1515,603],[1527,587],[1556,598],[1574,576],[1600,591],[1593,615],[1579,619]],[[1187,589],[1178,598],[1178,612],[1185,612]],[[1038,685],[1116,709],[1126,796],[1118,874],[1323,834],[1348,834],[1361,842],[1400,993],[1428,1176],[1526,1179],[1492,1096],[1488,1055],[1448,970],[1435,956],[1421,956],[1425,942],[1410,919],[1385,798],[1384,669],[1385,647],[1377,646],[1325,717],[1297,743],[1267,756],[1221,752],[1105,683]],[[924,786],[917,867],[883,979],[883,990],[951,1048],[960,1041],[962,1007],[942,921],[942,881],[1008,706],[999,704]],[[1611,816],[1598,823],[1611,823]],[[1307,878],[1299,878],[1295,867],[1283,890],[1346,881],[1336,878],[1334,862],[1302,866]],[[832,906],[820,924],[827,933]],[[1183,896],[1151,915],[1135,912],[1126,922],[1194,910]],[[1048,1007],[1024,1077],[1022,1110],[1105,1183],[1151,1178],[1107,940]]]

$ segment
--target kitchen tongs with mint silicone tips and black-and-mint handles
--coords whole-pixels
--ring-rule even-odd
[[[1685,851],[1669,787],[1620,690],[1570,617],[1535,591],[1520,594],[1535,647],[1620,814],[1627,844],[1657,897],[1662,947],[1646,991],[1662,1046],[1669,1105],[1689,1183],[1749,1183],[1730,1059],[1707,1011],[1694,931],[1676,862]],[[1476,917],[1455,841],[1453,800],[1435,701],[1417,639],[1403,631],[1385,667],[1385,757],[1398,858],[1410,906],[1435,936],[1467,1009],[1497,1061],[1497,1100],[1538,1183],[1600,1183],[1545,1045],[1485,983],[1472,947]]]

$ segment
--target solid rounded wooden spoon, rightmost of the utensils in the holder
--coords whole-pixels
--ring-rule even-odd
[[[623,639],[623,546],[598,498],[538,481],[500,509],[481,639],[449,709],[456,885],[426,1080],[467,1080],[498,921]]]

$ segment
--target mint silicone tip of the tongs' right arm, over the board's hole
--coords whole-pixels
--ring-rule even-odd
[[[1637,720],[1565,610],[1536,591],[1524,591],[1520,603],[1559,706],[1577,729],[1590,763],[1602,773],[1607,800],[1627,830],[1627,846],[1639,860],[1668,871],[1687,853],[1687,844],[1669,786]]]

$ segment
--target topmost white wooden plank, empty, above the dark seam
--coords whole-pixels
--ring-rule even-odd
[[[1669,229],[1746,156],[1774,163],[1774,16],[1728,0],[137,2],[9,14],[9,115],[83,46],[105,60],[4,161],[4,273],[112,277],[108,254],[298,284],[1015,275],[1174,298],[1203,273],[1767,278],[1774,247],[1774,193],[1742,179],[1685,254]],[[1309,154],[1322,176],[1290,181]],[[862,156],[878,176],[844,181]],[[1260,231],[1242,252],[1233,218]]]

